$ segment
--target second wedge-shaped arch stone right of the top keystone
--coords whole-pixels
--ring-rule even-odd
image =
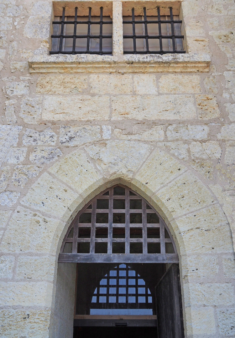
[[[159,190],[157,195],[174,217],[206,207],[214,201],[209,190],[190,171],[175,178]]]

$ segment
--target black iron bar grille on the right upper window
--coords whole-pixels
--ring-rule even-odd
[[[146,7],[143,16],[123,17],[124,54],[167,54],[185,53],[183,50],[184,35],[181,35],[181,23],[178,16],[162,16],[157,7],[157,16],[147,16]]]

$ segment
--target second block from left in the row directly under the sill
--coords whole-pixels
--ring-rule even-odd
[[[132,75],[91,74],[89,82],[92,94],[133,94]]]

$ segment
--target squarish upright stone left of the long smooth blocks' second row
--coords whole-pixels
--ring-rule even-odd
[[[21,101],[20,117],[26,123],[37,123],[41,118],[42,113],[42,99],[35,98],[23,98]]]

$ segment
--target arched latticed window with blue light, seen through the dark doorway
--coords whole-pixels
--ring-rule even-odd
[[[142,277],[127,264],[112,268],[92,295],[90,314],[152,315],[152,295]]]

